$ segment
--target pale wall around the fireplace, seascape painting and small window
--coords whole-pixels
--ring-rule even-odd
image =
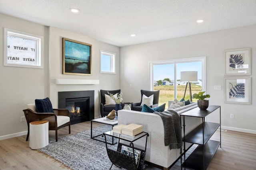
[[[119,47],[101,43],[95,39],[63,29],[50,27],[50,99],[53,107],[58,107],[58,92],[94,90],[95,117],[100,115],[99,90],[114,90],[119,84]],[[88,43],[92,45],[92,76],[62,74],[62,37]],[[100,50],[116,53],[116,74],[100,73]],[[55,79],[84,79],[100,80],[100,84],[93,85],[63,85],[55,84]]]

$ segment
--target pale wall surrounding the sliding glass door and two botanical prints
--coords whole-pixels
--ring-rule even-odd
[[[206,56],[206,90],[210,104],[220,105],[222,126],[256,133],[256,25],[203,33],[120,48],[120,84],[126,102],[139,102],[140,90],[150,90],[149,61]],[[224,50],[251,48],[252,105],[224,103]],[[129,88],[132,84],[132,88]],[[214,90],[221,85],[222,90]],[[230,119],[230,113],[234,119]],[[214,114],[215,115],[215,114]],[[218,115],[216,115],[218,116]],[[210,121],[210,119],[208,119]]]

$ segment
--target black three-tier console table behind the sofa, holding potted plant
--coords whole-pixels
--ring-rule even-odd
[[[205,121],[205,117],[220,108],[220,106],[210,105],[207,110],[200,110],[198,107],[181,113],[181,119],[183,116],[183,132],[184,132],[184,162],[181,165],[181,168],[190,168],[194,170],[205,170],[212,160],[215,152],[218,147],[221,147],[221,121],[220,123],[212,123]],[[185,117],[199,117],[202,118],[202,124],[193,129],[190,133],[185,135]],[[221,113],[220,113],[221,117]],[[221,120],[221,119],[220,119]],[[220,127],[220,141],[210,140],[210,137],[214,132]],[[185,158],[186,147],[185,143],[198,144],[198,147]]]

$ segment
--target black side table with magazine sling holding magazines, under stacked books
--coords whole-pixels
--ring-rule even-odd
[[[117,150],[112,150],[112,149],[108,148],[106,135],[108,135],[110,137],[118,138]],[[144,165],[144,160],[145,160],[145,155],[146,155],[146,148],[147,148],[147,140],[148,140],[148,136],[149,136],[148,133],[142,132],[142,133],[136,135],[135,137],[126,137],[126,136],[122,136],[122,134],[114,133],[112,130],[112,131],[103,133],[102,136],[105,137],[105,143],[106,143],[108,157],[109,157],[110,161],[112,162],[110,169],[112,168],[112,166],[114,164],[114,165],[118,166],[119,168],[125,168],[127,170],[143,170],[143,165]],[[134,144],[133,144],[134,141],[137,141],[138,139],[140,139],[142,137],[146,137],[145,149],[139,149],[139,148],[134,147]],[[120,140],[128,142],[129,145],[121,143]],[[130,152],[130,153],[132,153],[131,156],[121,153],[122,146],[130,147],[130,149],[132,150],[132,152]],[[138,164],[136,164],[134,150],[140,151],[140,159],[139,159]]]

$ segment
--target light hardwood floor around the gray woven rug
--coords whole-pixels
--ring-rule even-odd
[[[102,124],[93,123],[93,127]],[[90,122],[71,125],[71,134],[90,129]],[[69,134],[68,128],[58,130],[58,137]],[[219,131],[213,138],[219,140]],[[49,140],[55,140],[49,131]],[[256,170],[256,135],[236,131],[222,132],[222,145],[214,155],[208,170]],[[32,150],[26,135],[0,141],[0,170],[63,170],[59,162]],[[107,168],[108,169],[108,168]]]

